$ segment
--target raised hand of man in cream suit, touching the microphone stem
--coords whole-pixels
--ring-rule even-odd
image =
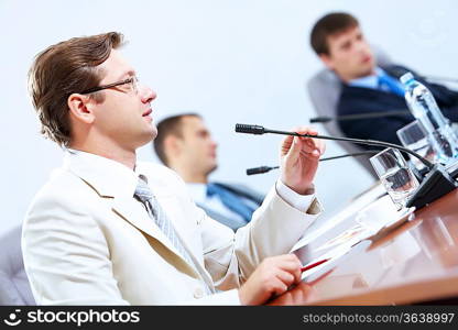
[[[315,130],[305,127],[297,128],[294,132],[318,134]],[[318,168],[319,157],[324,152],[323,140],[286,136],[280,152],[282,183],[299,195],[309,194],[314,188],[313,180]]]

